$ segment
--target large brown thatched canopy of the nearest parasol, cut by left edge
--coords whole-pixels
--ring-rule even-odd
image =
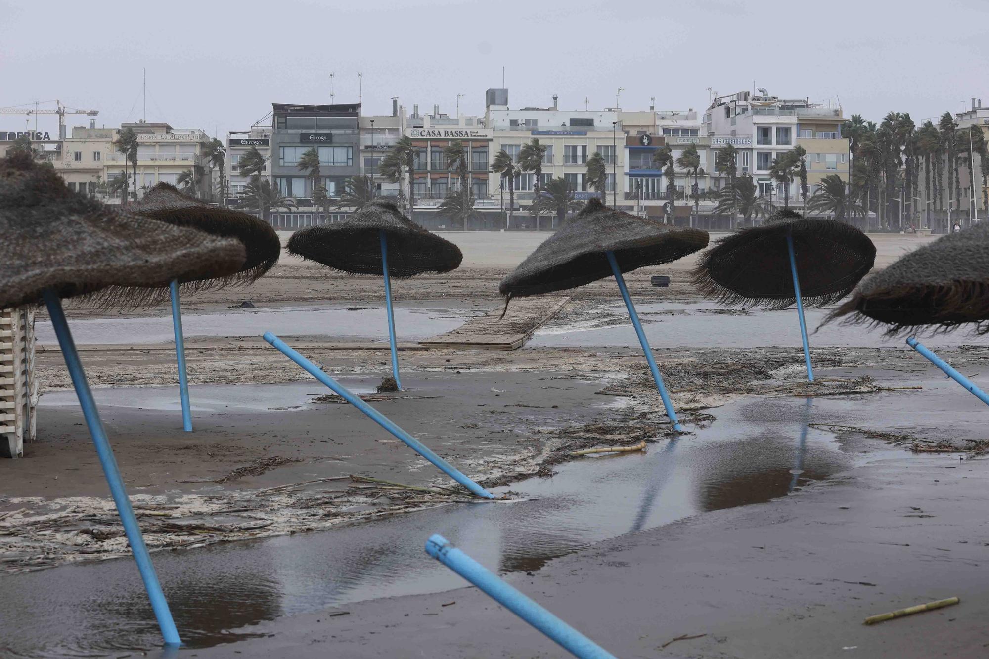
[[[30,154],[0,159],[0,308],[40,303],[46,288],[68,298],[228,276],[243,260],[236,240],[76,194]]]

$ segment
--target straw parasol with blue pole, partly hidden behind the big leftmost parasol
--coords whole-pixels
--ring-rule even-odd
[[[185,288],[195,290],[254,282],[278,262],[278,257],[282,253],[282,243],[278,234],[267,222],[240,211],[208,206],[198,199],[182,194],[168,183],[158,183],[148,190],[139,203],[131,206],[131,210],[176,227],[188,227],[210,235],[233,238],[244,246],[244,261],[240,264],[240,268],[232,274],[212,271],[204,273],[202,277],[195,280],[173,280],[169,283],[172,326],[175,331],[175,355],[179,369],[182,426],[189,432],[192,431],[192,412],[189,406],[189,382],[186,376],[185,338],[182,333],[179,285],[184,284]],[[146,290],[140,292],[135,292],[135,289],[116,290],[112,296],[124,300],[131,296],[146,298],[148,297]],[[151,294],[151,297],[156,296]]]

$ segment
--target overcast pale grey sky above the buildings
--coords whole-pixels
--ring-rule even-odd
[[[97,125],[142,114],[220,137],[272,102],[354,102],[391,112],[391,97],[431,112],[484,114],[501,86],[510,107],[703,110],[749,90],[837,104],[918,124],[962,101],[989,104],[989,0],[0,0],[0,107],[61,99],[97,109]],[[69,126],[84,118],[67,118]],[[34,124],[32,122],[32,128]],[[56,122],[41,120],[53,130]],[[25,118],[0,115],[0,130]]]

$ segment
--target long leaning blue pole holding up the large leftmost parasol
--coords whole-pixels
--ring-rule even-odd
[[[110,486],[110,494],[114,498],[114,503],[117,504],[117,513],[124,523],[124,532],[127,533],[131,551],[134,552],[140,578],[144,581],[144,589],[151,601],[151,609],[154,610],[154,615],[158,618],[161,635],[164,637],[165,643],[181,643],[179,632],[175,628],[175,621],[172,619],[172,612],[168,610],[168,602],[165,601],[164,593],[161,592],[158,575],[154,572],[154,565],[151,564],[151,557],[147,553],[144,538],[140,534],[140,526],[137,524],[134,509],[131,507],[131,500],[124,489],[124,479],[121,477],[117,460],[114,458],[114,451],[110,447],[110,440],[107,439],[107,432],[103,428],[103,422],[100,421],[100,413],[96,409],[93,393],[89,390],[86,372],[82,368],[79,353],[75,349],[72,332],[65,321],[61,301],[54,291],[45,290],[45,305],[48,308],[48,316],[51,317],[51,326],[55,330],[55,336],[58,337],[58,345],[61,347],[65,366],[68,367],[72,385],[75,387],[76,396],[79,398],[79,407],[82,408],[82,415],[86,419],[86,425],[89,426],[89,434],[93,437],[93,443],[96,445],[96,453],[100,457],[103,474]]]

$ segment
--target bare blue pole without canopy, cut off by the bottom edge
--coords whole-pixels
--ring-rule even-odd
[[[615,659],[614,655],[590,640],[551,612],[521,594],[439,534],[426,540],[426,553],[471,582],[495,602],[543,632],[568,652],[581,659]]]

